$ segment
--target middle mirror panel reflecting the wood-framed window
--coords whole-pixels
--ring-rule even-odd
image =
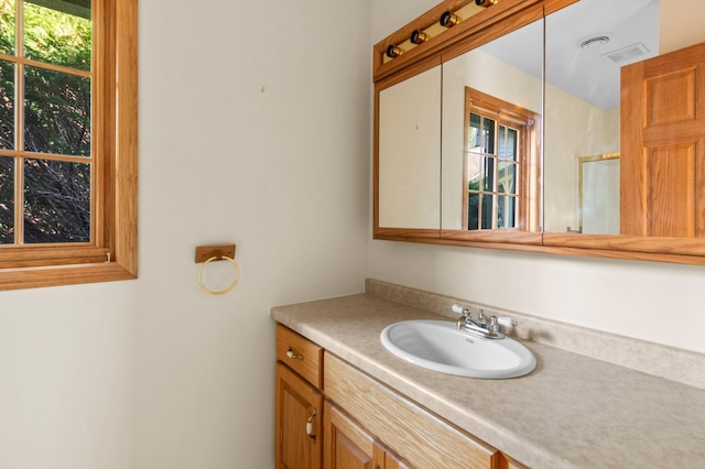
[[[442,228],[540,230],[543,20],[443,63]]]

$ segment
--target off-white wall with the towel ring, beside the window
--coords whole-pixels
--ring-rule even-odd
[[[269,308],[364,287],[369,13],[140,2],[140,277],[0,292],[0,467],[273,467]]]

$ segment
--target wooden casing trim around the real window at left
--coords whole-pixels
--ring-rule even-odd
[[[2,247],[0,253],[12,259],[18,252],[23,261],[14,259],[10,268],[0,269],[0,290],[30,288],[52,285],[107,282],[137,277],[138,263],[138,0],[96,2],[101,19],[96,23],[97,46],[105,54],[95,54],[95,73],[101,76],[104,89],[94,99],[100,100],[102,116],[95,124],[106,134],[117,135],[104,141],[106,164],[98,164],[96,179],[109,189],[96,192],[96,206],[106,214],[95,220],[95,246],[76,249],[57,247]],[[115,76],[115,77],[113,77]],[[117,97],[117,98],[115,98]],[[117,100],[116,100],[117,99]],[[110,263],[102,261],[110,252]],[[72,255],[64,265],[47,265],[62,257]],[[45,255],[43,266],[36,266]],[[95,262],[89,263],[85,262]],[[76,264],[78,262],[78,264]],[[21,266],[32,265],[32,266]]]

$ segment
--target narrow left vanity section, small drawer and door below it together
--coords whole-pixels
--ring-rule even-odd
[[[322,468],[322,348],[276,326],[274,458],[278,469]]]

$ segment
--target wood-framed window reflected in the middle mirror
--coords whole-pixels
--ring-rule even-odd
[[[538,226],[539,116],[473,88],[465,97],[466,230]]]

